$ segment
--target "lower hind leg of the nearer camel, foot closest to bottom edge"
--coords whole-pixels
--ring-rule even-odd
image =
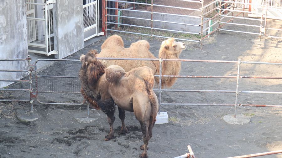
[[[142,130],[142,133],[143,133],[143,141],[144,141],[144,145],[141,145],[140,146],[140,149],[141,150],[144,150],[142,154],[139,155],[140,158],[147,158],[147,147],[148,147],[148,143],[149,143],[149,140],[150,140],[150,136],[149,136],[149,131],[148,131],[148,124],[149,124],[149,121],[146,122],[146,123],[141,123],[141,130]]]

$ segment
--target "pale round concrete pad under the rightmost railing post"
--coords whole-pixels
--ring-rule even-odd
[[[251,121],[248,116],[243,114],[237,114],[236,117],[234,117],[234,114],[228,114],[223,117],[223,120],[233,125],[244,125]]]

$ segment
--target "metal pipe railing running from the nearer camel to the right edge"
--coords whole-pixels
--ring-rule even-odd
[[[239,106],[253,106],[253,107],[278,107],[282,108],[282,105],[266,105],[266,104],[239,104],[238,95],[240,93],[256,93],[256,94],[282,94],[282,92],[274,91],[244,91],[239,90],[239,80],[242,78],[245,79],[282,79],[282,77],[272,77],[272,76],[241,76],[240,75],[240,65],[241,64],[272,64],[272,65],[282,65],[282,63],[270,63],[270,62],[250,62],[250,61],[225,61],[225,60],[192,60],[192,59],[139,59],[139,58],[97,58],[97,59],[107,59],[107,60],[151,60],[159,61],[159,75],[154,75],[159,77],[159,89],[153,89],[154,91],[159,92],[158,102],[159,106],[162,105],[196,105],[196,106],[234,106],[235,112],[234,117],[237,115],[237,108]],[[187,75],[162,75],[162,63],[163,61],[182,61],[182,62],[206,62],[206,63],[234,63],[238,64],[237,76],[187,76]],[[161,82],[163,77],[176,77],[176,78],[236,78],[236,90],[190,90],[190,89],[162,89]],[[162,92],[208,92],[208,93],[235,93],[236,99],[234,104],[194,104],[194,103],[162,103],[161,96]],[[160,107],[159,107],[160,113]]]

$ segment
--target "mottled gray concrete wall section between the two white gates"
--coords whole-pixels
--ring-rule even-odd
[[[62,59],[83,48],[83,0],[57,0],[53,4],[54,44]]]

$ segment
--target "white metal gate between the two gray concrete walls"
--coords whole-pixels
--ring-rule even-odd
[[[29,52],[44,55],[58,54],[54,50],[53,3],[56,3],[56,0],[43,0],[41,3],[26,0]]]

